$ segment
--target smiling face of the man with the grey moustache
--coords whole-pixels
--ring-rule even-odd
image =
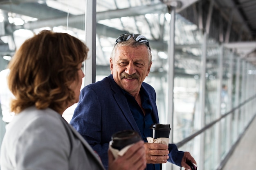
[[[151,67],[146,46],[117,48],[115,57],[110,59],[110,70],[115,82],[132,96],[139,94],[142,82]]]

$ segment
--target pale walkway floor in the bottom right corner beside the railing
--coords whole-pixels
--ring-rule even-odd
[[[256,118],[222,170],[256,170]]]

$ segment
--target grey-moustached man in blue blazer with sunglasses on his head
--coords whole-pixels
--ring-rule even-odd
[[[84,87],[70,124],[81,133],[99,154],[108,169],[108,146],[111,135],[132,129],[144,139],[147,170],[159,170],[167,160],[189,169],[186,161],[196,164],[188,152],[175,144],[149,144],[149,126],[159,123],[156,94],[143,82],[152,64],[151,49],[143,35],[120,35],[110,57],[111,74],[102,81]]]

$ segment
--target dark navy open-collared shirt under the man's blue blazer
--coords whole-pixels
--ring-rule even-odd
[[[153,118],[151,116],[152,113],[152,106],[149,102],[149,96],[144,91],[143,87],[140,89],[140,96],[141,96],[141,105],[145,109],[146,114],[144,116],[144,113],[142,109],[140,108],[138,102],[135,100],[133,96],[128,94],[126,91],[124,92],[128,105],[130,107],[130,111],[132,112],[132,116],[135,119],[137,126],[139,127],[139,131],[142,135],[142,138],[144,142],[148,142],[146,137],[152,137],[153,136],[153,130],[149,129],[151,124],[153,124]],[[159,164],[147,164],[146,170],[160,170]]]

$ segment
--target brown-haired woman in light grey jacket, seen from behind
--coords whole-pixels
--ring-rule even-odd
[[[42,31],[22,44],[9,63],[9,89],[16,115],[1,146],[1,170],[101,170],[88,143],[62,117],[79,101],[88,48],[66,33]],[[109,169],[146,167],[143,142],[114,159]]]

